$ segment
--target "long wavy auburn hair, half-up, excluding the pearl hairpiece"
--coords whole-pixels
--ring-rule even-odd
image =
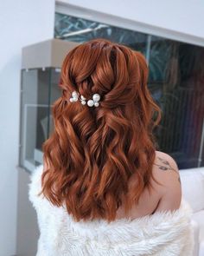
[[[123,201],[128,213],[150,187],[152,129],[161,109],[147,79],[144,56],[108,40],[82,43],[65,57],[61,97],[52,107],[54,131],[42,146],[40,194],[74,220],[111,222]],[[98,93],[99,107],[70,102],[74,90],[86,99]]]

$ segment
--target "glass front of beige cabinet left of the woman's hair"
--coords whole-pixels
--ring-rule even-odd
[[[50,102],[60,96],[58,69],[22,70],[20,166],[33,171],[42,163],[41,146],[53,129]]]

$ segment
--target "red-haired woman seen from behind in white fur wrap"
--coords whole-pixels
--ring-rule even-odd
[[[67,54],[54,133],[29,184],[38,256],[192,255],[178,167],[152,136],[161,110],[147,78],[143,55],[118,43]]]

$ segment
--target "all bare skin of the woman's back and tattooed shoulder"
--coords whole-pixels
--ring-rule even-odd
[[[135,219],[158,211],[173,211],[180,207],[182,187],[175,160],[169,154],[156,151],[152,174],[161,185],[151,180],[152,188],[150,191],[144,189],[138,204],[131,208],[128,215],[124,215],[123,205],[118,208],[118,219]]]

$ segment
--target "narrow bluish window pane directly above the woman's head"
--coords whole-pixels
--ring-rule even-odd
[[[146,34],[61,13],[55,13],[54,37],[78,43],[93,38],[106,38],[113,42],[123,43],[133,49],[136,48],[146,54]]]

